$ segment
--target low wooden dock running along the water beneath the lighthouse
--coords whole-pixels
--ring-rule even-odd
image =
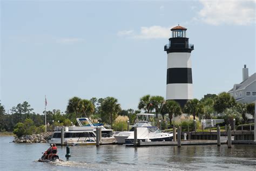
[[[227,143],[226,140],[220,141],[221,144]],[[151,142],[138,142],[138,146],[177,146],[177,141],[151,141]],[[217,145],[217,140],[182,140],[181,146],[188,145]],[[126,144],[126,146],[134,146],[133,144]]]

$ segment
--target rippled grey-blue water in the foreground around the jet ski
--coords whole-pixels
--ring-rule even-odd
[[[37,162],[48,143],[9,143],[0,137],[0,170],[256,170],[256,145],[58,147],[65,162]]]

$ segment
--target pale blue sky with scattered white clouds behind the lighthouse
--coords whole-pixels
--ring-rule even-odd
[[[193,97],[228,91],[255,72],[255,1],[1,1],[1,103],[36,113],[114,97],[137,110],[166,95],[170,29],[194,44]],[[10,111],[9,111],[10,113]]]

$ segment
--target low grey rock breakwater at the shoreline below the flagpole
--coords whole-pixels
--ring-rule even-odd
[[[32,134],[32,135],[22,135],[21,137],[15,137],[14,141],[15,143],[42,143],[42,142],[48,142],[49,139],[51,139],[53,132],[46,132],[41,134]]]

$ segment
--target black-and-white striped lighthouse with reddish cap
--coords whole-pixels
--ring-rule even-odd
[[[171,29],[172,37],[164,46],[167,52],[166,100],[175,100],[184,107],[187,100],[193,98],[191,51],[186,28],[178,25]]]

